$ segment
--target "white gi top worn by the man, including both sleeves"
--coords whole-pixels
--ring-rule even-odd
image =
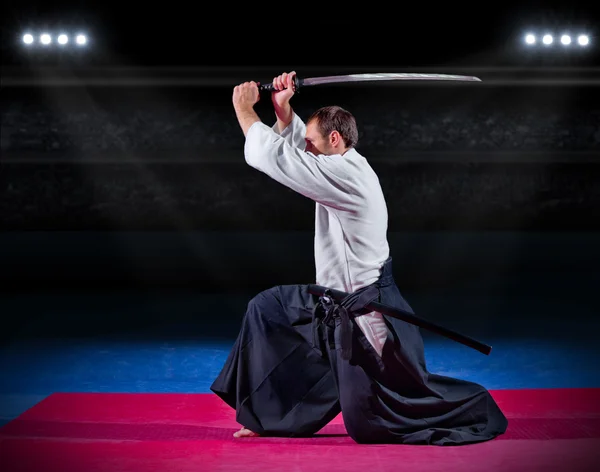
[[[387,206],[377,174],[355,149],[344,155],[305,151],[306,126],[294,113],[281,132],[262,122],[247,132],[246,162],[316,202],[316,284],[354,292],[372,284],[389,257]],[[380,313],[356,317],[381,355],[387,326]]]

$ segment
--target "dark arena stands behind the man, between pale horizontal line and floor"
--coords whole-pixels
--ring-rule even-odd
[[[228,74],[205,86],[9,87],[2,286],[210,294],[313,282],[314,204],[246,164],[231,88],[217,85],[267,71]],[[475,86],[315,87],[293,104],[304,118],[327,104],[355,113],[404,290],[477,283],[479,295],[542,290],[585,305],[600,251],[600,87],[483,75]],[[268,97],[258,111],[273,123]]]

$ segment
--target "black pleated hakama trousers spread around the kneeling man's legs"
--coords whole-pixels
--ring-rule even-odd
[[[259,293],[211,390],[264,436],[309,436],[340,411],[358,443],[462,445],[506,431],[483,386],[427,371],[419,327],[385,316],[379,356],[353,319],[372,301],[413,313],[391,258],[374,284],[337,304],[308,285]]]

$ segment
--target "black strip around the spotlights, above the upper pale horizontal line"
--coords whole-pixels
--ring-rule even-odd
[[[598,65],[593,2],[20,2],[2,5],[3,65],[39,64],[18,47],[27,29],[82,30],[96,66],[474,66]],[[586,52],[526,53],[528,30],[586,31]],[[575,48],[573,48],[575,49]],[[91,52],[90,52],[91,51]],[[46,63],[56,62],[49,54]],[[75,62],[73,62],[75,61]]]

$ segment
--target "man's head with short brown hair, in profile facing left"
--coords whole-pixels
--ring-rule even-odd
[[[306,151],[313,154],[344,154],[358,142],[354,116],[341,107],[319,108],[306,121]]]

